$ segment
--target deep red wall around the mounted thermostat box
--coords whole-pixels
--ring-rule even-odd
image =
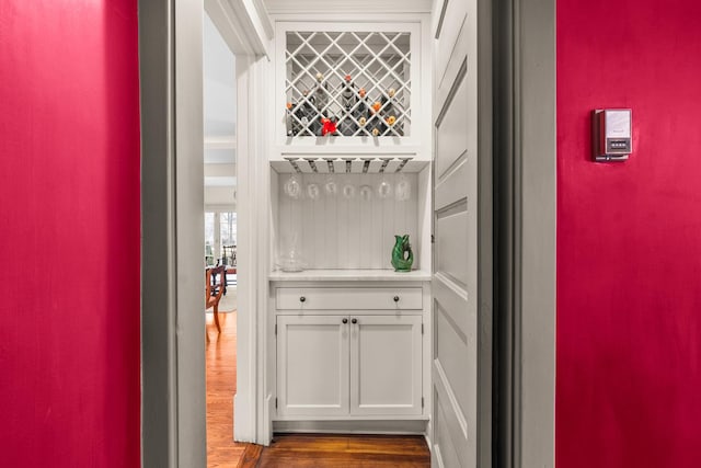
[[[556,467],[701,466],[701,2],[558,1]],[[589,112],[633,110],[590,161]]]

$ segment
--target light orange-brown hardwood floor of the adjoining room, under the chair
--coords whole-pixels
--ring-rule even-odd
[[[207,313],[207,467],[235,468],[246,445],[233,442],[233,393],[237,389],[237,312],[219,313],[217,336]]]

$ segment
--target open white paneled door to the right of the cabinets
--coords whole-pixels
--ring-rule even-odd
[[[476,467],[474,0],[446,0],[434,76],[433,465]]]

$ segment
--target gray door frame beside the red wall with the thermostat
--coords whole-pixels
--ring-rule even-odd
[[[555,0],[494,10],[494,466],[554,467]]]

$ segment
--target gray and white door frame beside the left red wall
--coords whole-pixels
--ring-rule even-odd
[[[141,452],[206,466],[202,0],[139,1]],[[195,228],[197,227],[197,228]]]

